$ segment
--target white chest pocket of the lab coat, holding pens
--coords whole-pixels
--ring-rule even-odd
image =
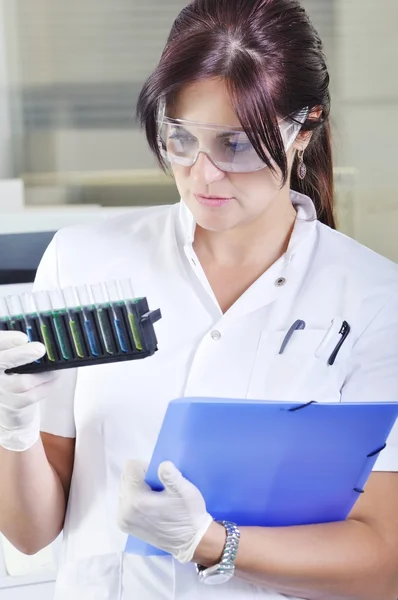
[[[249,398],[309,402],[339,401],[341,369],[328,364],[327,349],[319,353],[328,329],[302,329],[280,350],[287,331],[262,333]]]

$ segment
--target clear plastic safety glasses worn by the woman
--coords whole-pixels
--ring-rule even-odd
[[[308,115],[304,109],[296,117],[279,122],[287,151]],[[297,121],[297,122],[296,122]],[[171,164],[192,167],[202,152],[221,171],[252,173],[267,165],[253,148],[243,129],[163,117],[158,120],[158,146],[162,157]]]

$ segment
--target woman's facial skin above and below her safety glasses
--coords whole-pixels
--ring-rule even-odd
[[[221,80],[205,80],[185,88],[167,116],[241,127]],[[288,151],[289,171],[293,158],[294,146]],[[280,172],[273,173],[267,167],[254,173],[225,173],[200,153],[192,167],[172,163],[172,169],[181,198],[196,223],[209,231],[234,229],[291,208],[289,184],[281,189]],[[214,197],[226,200],[214,202]]]

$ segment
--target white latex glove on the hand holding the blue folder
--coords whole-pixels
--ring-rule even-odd
[[[120,489],[118,524],[124,533],[172,554],[180,563],[192,560],[213,522],[199,490],[171,462],[159,466],[164,486],[154,492],[145,483],[147,464],[129,461]]]

